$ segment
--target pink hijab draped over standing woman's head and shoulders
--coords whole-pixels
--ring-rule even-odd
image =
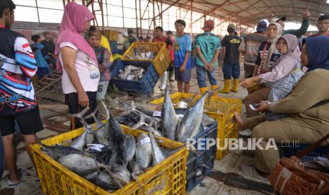
[[[82,52],[85,52],[91,59],[97,61],[95,51],[88,42],[80,35],[84,31],[85,23],[95,18],[86,6],[70,2],[65,6],[62,23],[59,27],[59,35],[55,45],[54,54],[57,56],[57,69],[62,71],[62,64],[59,56],[59,43],[69,42]]]

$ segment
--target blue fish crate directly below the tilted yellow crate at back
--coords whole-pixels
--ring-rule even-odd
[[[146,68],[144,77],[139,81],[116,79],[115,76],[119,73],[119,70],[125,71],[125,66],[128,65]],[[151,62],[120,60],[111,72],[111,82],[120,91],[149,95],[154,93],[154,86],[158,82],[158,73]]]

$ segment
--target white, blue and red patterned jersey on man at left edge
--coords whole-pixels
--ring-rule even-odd
[[[32,49],[23,35],[8,28],[0,27],[0,37],[0,98],[11,99],[0,103],[0,116],[32,110],[37,105],[31,81],[37,61]]]

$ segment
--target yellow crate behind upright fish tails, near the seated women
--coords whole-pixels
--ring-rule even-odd
[[[173,93],[171,94],[171,101],[175,107],[175,104],[178,104],[180,101],[191,102],[191,99],[194,94],[192,93]],[[192,100],[192,105],[195,105],[197,100],[201,98],[201,95],[198,94]],[[156,105],[162,105],[164,98],[159,98],[158,100],[153,100],[150,103]],[[242,110],[242,100],[234,98],[221,98],[221,97],[212,97],[209,102],[206,98],[204,102],[204,113],[208,114],[209,117],[212,117],[217,120],[217,138],[219,140],[224,140],[225,137],[231,135],[232,132],[238,134],[238,124],[236,119],[234,119],[234,112],[241,114]],[[233,133],[232,133],[233,135]],[[220,146],[224,146],[224,142],[220,142]],[[223,158],[223,153],[221,150],[217,150],[216,158]]]

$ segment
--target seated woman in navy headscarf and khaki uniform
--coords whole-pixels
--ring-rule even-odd
[[[289,114],[282,119],[253,123],[253,138],[263,138],[260,143],[263,148],[270,138],[274,138],[275,143],[315,143],[329,133],[328,45],[329,37],[326,36],[306,38],[306,45],[301,51],[301,65],[307,66],[308,72],[286,98],[258,107],[259,112]],[[279,158],[279,151],[274,148],[256,148],[255,166],[242,165],[241,170],[246,175],[266,179]]]

